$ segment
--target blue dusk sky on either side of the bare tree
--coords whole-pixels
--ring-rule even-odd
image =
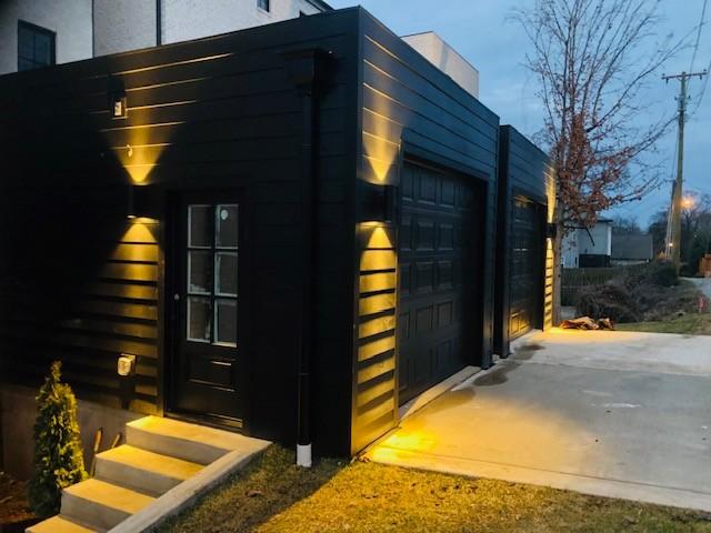
[[[480,100],[499,117],[502,124],[512,124],[527,135],[542,128],[542,108],[534,92],[537,81],[523,66],[530,48],[517,22],[510,20],[518,7],[529,7],[533,0],[329,0],[333,8],[360,3],[385,26],[400,36],[432,30],[454,47],[480,72]],[[661,0],[659,41],[670,34],[684,36],[691,44],[695,28],[701,21],[703,0]],[[711,64],[711,7],[705,14],[701,41],[693,70],[704,70]],[[681,51],[665,69],[668,73],[689,71],[693,47]],[[711,81],[700,101],[703,81],[690,82],[690,111],[695,109],[685,130],[685,189],[711,194]],[[677,108],[679,82],[665,83],[661,77],[650,87],[650,113],[672,114]],[[700,103],[699,103],[700,102]],[[663,209],[670,200],[671,182],[675,175],[675,128],[659,144],[653,155],[664,172],[659,191],[650,193],[641,202],[625,204],[612,213],[638,218],[647,225],[649,218]]]

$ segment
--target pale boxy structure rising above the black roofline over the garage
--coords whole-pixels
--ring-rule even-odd
[[[479,71],[433,31],[401,38],[472,97],[479,98]]]

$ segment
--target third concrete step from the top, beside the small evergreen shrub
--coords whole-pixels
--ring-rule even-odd
[[[62,491],[62,516],[97,530],[110,530],[154,499],[100,480],[87,480]]]

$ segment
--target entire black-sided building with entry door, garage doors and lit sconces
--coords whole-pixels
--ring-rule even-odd
[[[501,135],[360,8],[0,77],[2,379],[354,454],[491,364]]]

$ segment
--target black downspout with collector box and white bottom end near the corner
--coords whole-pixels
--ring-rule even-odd
[[[322,58],[321,49],[282,52],[287,60],[289,80],[301,97],[301,184],[302,184],[302,290],[301,290],[301,343],[298,356],[297,392],[297,464],[311,466],[311,354],[314,349],[317,242],[318,242],[318,175],[314,171],[316,113],[318,81]]]

